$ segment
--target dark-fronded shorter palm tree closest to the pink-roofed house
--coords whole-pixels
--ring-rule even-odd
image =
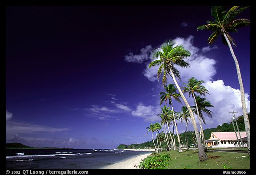
[[[205,120],[204,120],[204,113],[208,114],[209,117],[212,117],[212,111],[210,111],[209,109],[206,109],[207,107],[214,107],[210,101],[207,100],[207,98],[202,98],[200,96],[196,96],[196,104],[197,104],[197,109],[198,110],[195,110],[194,113],[196,113],[197,116],[200,116],[200,118],[202,119],[202,121],[204,122],[205,124]],[[192,108],[196,108],[196,106],[191,106]],[[204,112],[204,113],[203,113]],[[201,128],[201,136],[202,136],[202,139],[203,139],[203,143],[204,143],[204,146],[206,147],[206,144],[205,144],[205,138],[204,138],[204,130],[203,130],[203,127],[202,127],[202,122],[200,121],[200,128]]]

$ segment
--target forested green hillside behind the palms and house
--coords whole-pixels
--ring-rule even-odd
[[[249,118],[249,122],[251,123],[251,113],[248,113],[248,118]],[[240,131],[245,131],[245,127],[244,127],[244,117],[243,116],[239,116],[237,117],[237,125]],[[236,125],[236,124],[235,124]],[[146,129],[145,129],[146,131]],[[234,131],[233,125],[232,123],[224,123],[222,125],[218,125],[216,128],[208,128],[208,129],[204,129],[204,137],[205,140],[209,139],[211,136],[211,132],[229,132],[229,131]],[[236,130],[237,131],[237,130]],[[191,144],[196,144],[196,138],[195,138],[195,132],[194,131],[188,131],[188,132],[183,132],[180,134],[180,139],[181,139],[181,144],[186,144],[185,143],[185,138],[188,140],[188,145]],[[177,136],[175,135],[175,140],[176,140],[176,145],[178,145],[177,142]],[[154,140],[155,143],[156,139]],[[166,148],[167,144],[165,142],[162,142],[162,148]],[[153,141],[148,141],[148,142],[144,142],[142,144],[130,144],[130,145],[126,145],[126,144],[120,144],[117,149],[144,149],[144,148],[154,148],[154,144]]]

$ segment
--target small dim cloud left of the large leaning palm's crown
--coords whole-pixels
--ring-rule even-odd
[[[136,63],[142,63],[144,60],[147,60],[150,58],[152,46],[148,45],[142,49],[140,49],[140,54],[133,54],[130,52],[128,55],[125,55],[125,61],[127,62],[136,62]]]

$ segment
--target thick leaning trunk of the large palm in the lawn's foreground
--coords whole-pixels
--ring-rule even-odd
[[[206,153],[204,151],[204,147],[203,147],[203,144],[202,144],[201,139],[200,139],[199,131],[198,131],[198,128],[197,128],[197,125],[196,125],[196,119],[195,119],[195,117],[193,115],[193,112],[192,112],[192,109],[190,108],[190,105],[188,104],[187,99],[185,98],[184,94],[182,93],[182,91],[180,89],[179,84],[176,81],[176,78],[175,78],[175,76],[174,76],[174,74],[172,72],[172,67],[170,67],[170,73],[172,75],[172,79],[173,79],[177,89],[180,92],[181,98],[183,99],[185,105],[188,107],[188,112],[189,112],[189,114],[191,116],[192,124],[193,124],[195,135],[196,135],[196,141],[197,141],[197,145],[198,145],[198,157],[199,157],[200,161],[207,160],[208,156],[206,155]]]

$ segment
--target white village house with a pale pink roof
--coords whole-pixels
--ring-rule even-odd
[[[240,146],[242,147],[242,144],[243,144],[244,147],[247,147],[247,136],[245,131],[240,132],[243,143],[241,143],[239,132],[212,132],[210,139],[205,140],[205,142],[207,147],[212,147],[212,148],[239,147],[236,134],[237,134]]]

